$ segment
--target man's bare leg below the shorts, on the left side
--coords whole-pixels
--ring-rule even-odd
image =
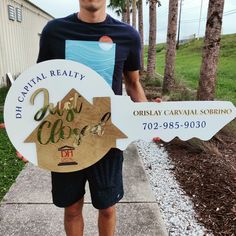
[[[64,225],[67,236],[83,236],[84,220],[82,209],[84,198],[65,208]]]

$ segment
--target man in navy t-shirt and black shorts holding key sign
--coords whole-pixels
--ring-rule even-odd
[[[147,101],[139,82],[138,32],[107,15],[106,0],[79,0],[79,4],[79,13],[46,25],[40,40],[38,62],[50,59],[79,61],[101,72],[115,94],[122,94],[123,77],[132,100]],[[93,49],[103,53],[104,58],[93,53]],[[52,173],[53,202],[65,208],[64,224],[68,236],[83,235],[82,208],[87,180],[92,204],[99,213],[99,235],[114,235],[115,204],[123,197],[122,163],[122,152],[111,149],[100,161],[82,171]]]

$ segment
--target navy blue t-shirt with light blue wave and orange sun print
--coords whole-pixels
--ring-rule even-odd
[[[74,13],[44,27],[37,62],[80,62],[97,71],[121,95],[123,71],[140,69],[140,47],[139,33],[132,26],[108,14],[103,22],[87,23]]]

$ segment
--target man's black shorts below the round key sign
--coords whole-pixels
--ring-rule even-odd
[[[80,171],[52,172],[53,203],[68,207],[85,194],[88,180],[92,204],[97,209],[113,206],[124,195],[122,179],[123,152],[111,149],[100,161]]]

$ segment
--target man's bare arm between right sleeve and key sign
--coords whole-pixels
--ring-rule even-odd
[[[134,102],[147,102],[143,87],[139,81],[139,71],[126,71],[124,74],[127,94]]]

